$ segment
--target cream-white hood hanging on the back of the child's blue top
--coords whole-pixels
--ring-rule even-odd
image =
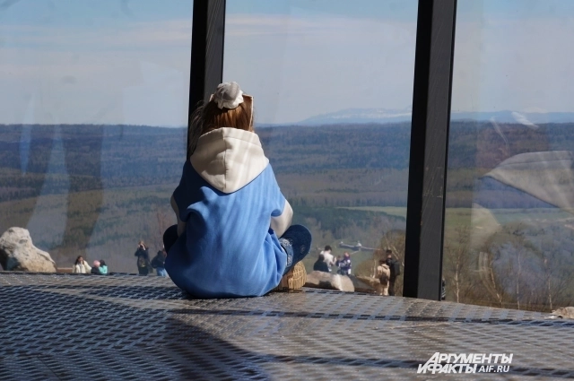
[[[247,186],[269,164],[257,134],[230,127],[202,135],[190,161],[205,181],[223,193]]]

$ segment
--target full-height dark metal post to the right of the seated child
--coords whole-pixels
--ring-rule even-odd
[[[404,245],[405,297],[440,300],[457,0],[419,0]]]

